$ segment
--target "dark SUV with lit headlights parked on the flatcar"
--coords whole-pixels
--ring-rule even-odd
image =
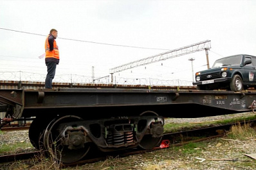
[[[227,89],[235,92],[256,88],[256,56],[233,55],[220,58],[212,68],[196,72],[198,90]]]

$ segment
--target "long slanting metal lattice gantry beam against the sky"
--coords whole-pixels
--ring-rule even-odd
[[[210,49],[210,47],[211,47],[210,40],[205,40],[203,42],[198,42],[198,43],[192,44],[190,46],[185,46],[185,47],[181,47],[178,49],[170,50],[165,53],[160,53],[159,55],[149,56],[147,58],[142,58],[140,60],[136,60],[136,61],[130,62],[128,64],[123,64],[118,67],[114,67],[114,68],[110,69],[110,74],[113,75],[115,72],[132,69],[134,67],[139,67],[141,65],[147,65],[147,64],[159,62],[162,60],[167,60],[169,58],[175,58],[175,57],[181,56],[181,55],[188,55],[190,53],[195,53],[197,51],[202,51],[202,50],[206,51],[206,58],[207,58],[207,62],[208,62],[207,54],[208,54],[208,49]]]

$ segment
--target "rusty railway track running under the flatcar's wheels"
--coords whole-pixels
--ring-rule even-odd
[[[239,124],[246,124],[246,123],[255,124],[256,120],[239,122]],[[194,130],[186,130],[182,132],[165,133],[163,135],[161,145],[149,150],[142,150],[142,149],[135,148],[135,149],[127,149],[124,151],[115,151],[115,152],[105,153],[102,151],[95,151],[95,149],[93,149],[94,150],[93,153],[90,153],[89,155],[87,155],[83,160],[80,160],[78,162],[71,163],[71,164],[61,164],[61,166],[65,167],[65,166],[77,166],[79,164],[81,165],[89,164],[93,162],[98,162],[100,160],[105,160],[109,156],[127,157],[129,155],[137,155],[137,154],[142,154],[146,152],[156,151],[159,149],[168,149],[170,147],[181,146],[191,142],[200,142],[203,140],[215,139],[215,138],[223,137],[225,135],[225,132],[230,130],[231,126],[235,124],[237,123],[221,124],[221,125],[211,126],[211,127],[196,128]],[[0,156],[0,163],[29,159],[42,154],[43,153],[41,151],[34,151],[29,153],[2,155]],[[98,155],[100,155],[100,157]]]

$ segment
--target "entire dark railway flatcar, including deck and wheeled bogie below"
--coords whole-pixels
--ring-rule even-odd
[[[253,111],[256,92],[155,89],[0,89],[0,128],[33,119],[30,142],[63,163],[91,149],[152,149],[165,117],[207,117]]]

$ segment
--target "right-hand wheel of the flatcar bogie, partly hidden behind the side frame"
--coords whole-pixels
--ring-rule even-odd
[[[153,111],[146,111],[143,112],[140,115],[158,115],[156,112]],[[155,148],[158,144],[160,144],[162,137],[152,137],[151,134],[146,134],[143,136],[142,140],[140,141],[140,148],[142,149],[153,149]]]

